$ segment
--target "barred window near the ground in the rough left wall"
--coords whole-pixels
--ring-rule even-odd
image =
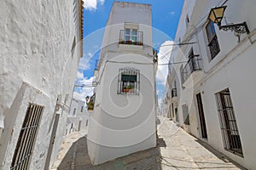
[[[44,106],[29,104],[10,169],[28,169]]]

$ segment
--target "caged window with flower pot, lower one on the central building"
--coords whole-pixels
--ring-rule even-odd
[[[139,94],[139,79],[138,70],[119,69],[118,94]]]

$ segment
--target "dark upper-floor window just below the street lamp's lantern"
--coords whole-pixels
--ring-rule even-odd
[[[207,24],[207,38],[208,38],[208,47],[210,48],[211,52],[211,59],[219,53],[220,49],[218,46],[218,38],[215,32],[214,23],[210,21]]]

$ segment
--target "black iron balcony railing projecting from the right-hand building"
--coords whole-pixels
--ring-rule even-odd
[[[190,74],[194,71],[201,71],[201,57],[200,55],[191,55],[189,56],[188,63],[183,68],[183,82],[185,82]]]

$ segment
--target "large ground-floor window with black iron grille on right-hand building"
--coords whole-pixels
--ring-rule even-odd
[[[227,88],[216,95],[218,104],[218,116],[224,139],[224,149],[243,156],[241,139],[236,124],[236,116],[230,97],[230,89]]]

